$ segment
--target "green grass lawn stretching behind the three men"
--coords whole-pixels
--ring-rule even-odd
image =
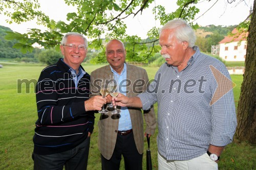
[[[37,119],[34,85],[31,84],[30,92],[26,93],[25,85],[22,93],[17,93],[17,80],[37,80],[40,71],[45,67],[40,64],[2,64],[0,68],[0,169],[33,169],[31,154],[33,151],[33,135],[35,121]],[[87,72],[103,66],[83,64]],[[157,67],[144,67],[148,77],[153,79]],[[240,87],[243,80],[241,75],[231,75],[232,81],[237,84],[234,87],[234,100],[236,106],[239,100]],[[157,111],[157,106],[155,106]],[[99,114],[96,114],[95,130],[91,137],[88,169],[100,169],[100,153],[98,151],[98,127]],[[153,169],[157,165],[157,132],[151,137],[151,152]],[[144,140],[143,169],[145,169],[146,140]],[[219,169],[255,169],[255,146],[246,142],[232,142],[229,144],[219,162]],[[123,161],[121,168],[124,169]]]

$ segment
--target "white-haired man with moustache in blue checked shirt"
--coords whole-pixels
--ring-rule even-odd
[[[145,110],[158,103],[159,169],[218,169],[220,155],[236,131],[232,90],[211,101],[220,81],[211,68],[230,79],[228,71],[219,60],[200,53],[195,41],[184,20],[167,22],[160,29],[166,62],[157,71],[157,81],[134,98],[115,99],[119,106]]]

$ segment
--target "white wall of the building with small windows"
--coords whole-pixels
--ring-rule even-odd
[[[240,45],[238,45],[238,41],[220,43],[219,56],[226,61],[245,61],[246,45],[247,42],[245,40],[241,41]],[[237,46],[237,50],[235,50],[235,46]]]

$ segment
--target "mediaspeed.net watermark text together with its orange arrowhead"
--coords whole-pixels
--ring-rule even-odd
[[[228,91],[230,91],[232,88],[236,86],[231,80],[229,80],[225,75],[223,75],[218,69],[216,69],[214,66],[209,66],[211,69],[212,74],[215,77],[215,80],[218,84],[217,89],[214,92],[214,95],[212,95],[212,99],[210,101],[210,105],[217,102],[222,96],[224,96]],[[37,82],[36,79],[18,79],[17,80],[17,93],[21,94],[24,93],[53,93],[56,92],[58,94],[63,93],[80,93],[80,94],[88,94],[90,93],[90,90],[86,88],[88,86],[87,83],[90,83],[88,79],[81,79],[77,83],[77,87],[74,86],[73,78],[63,74],[63,79],[58,80],[50,80],[50,79],[44,79],[39,82]],[[102,79],[96,79],[93,83],[93,86],[95,87],[94,90],[91,91],[91,93],[99,94],[100,93],[100,84],[103,82],[105,86],[107,87],[111,82],[116,80],[102,80]],[[159,91],[159,84],[161,83],[161,74],[157,75],[157,79],[152,79],[148,83],[145,82],[143,79],[137,79],[136,81],[131,81],[129,79],[122,80],[119,83],[119,92],[120,93],[129,93],[129,90],[127,90],[127,87],[131,87],[129,89],[132,89],[132,91],[136,94],[140,94],[142,92],[142,87],[147,86],[149,87],[151,83],[155,83],[154,89],[147,88],[147,93],[157,93],[161,92],[163,93],[180,93],[181,90],[183,92],[190,94],[190,93],[204,93],[204,83],[207,82],[207,79],[204,76],[201,76],[199,80],[194,79],[188,79],[185,82],[182,82],[180,79],[170,79],[169,81],[169,88],[168,90],[161,90]],[[183,84],[182,84],[183,83]],[[177,90],[173,91],[174,86]],[[34,90],[32,91],[32,87],[34,87]],[[126,90],[123,87],[126,87]],[[197,90],[195,88],[197,87]]]

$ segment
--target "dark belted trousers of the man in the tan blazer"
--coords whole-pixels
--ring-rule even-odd
[[[122,156],[125,170],[141,170],[143,154],[139,154],[135,145],[133,132],[127,135],[117,134],[116,146],[110,160],[101,155],[102,170],[119,170]]]

